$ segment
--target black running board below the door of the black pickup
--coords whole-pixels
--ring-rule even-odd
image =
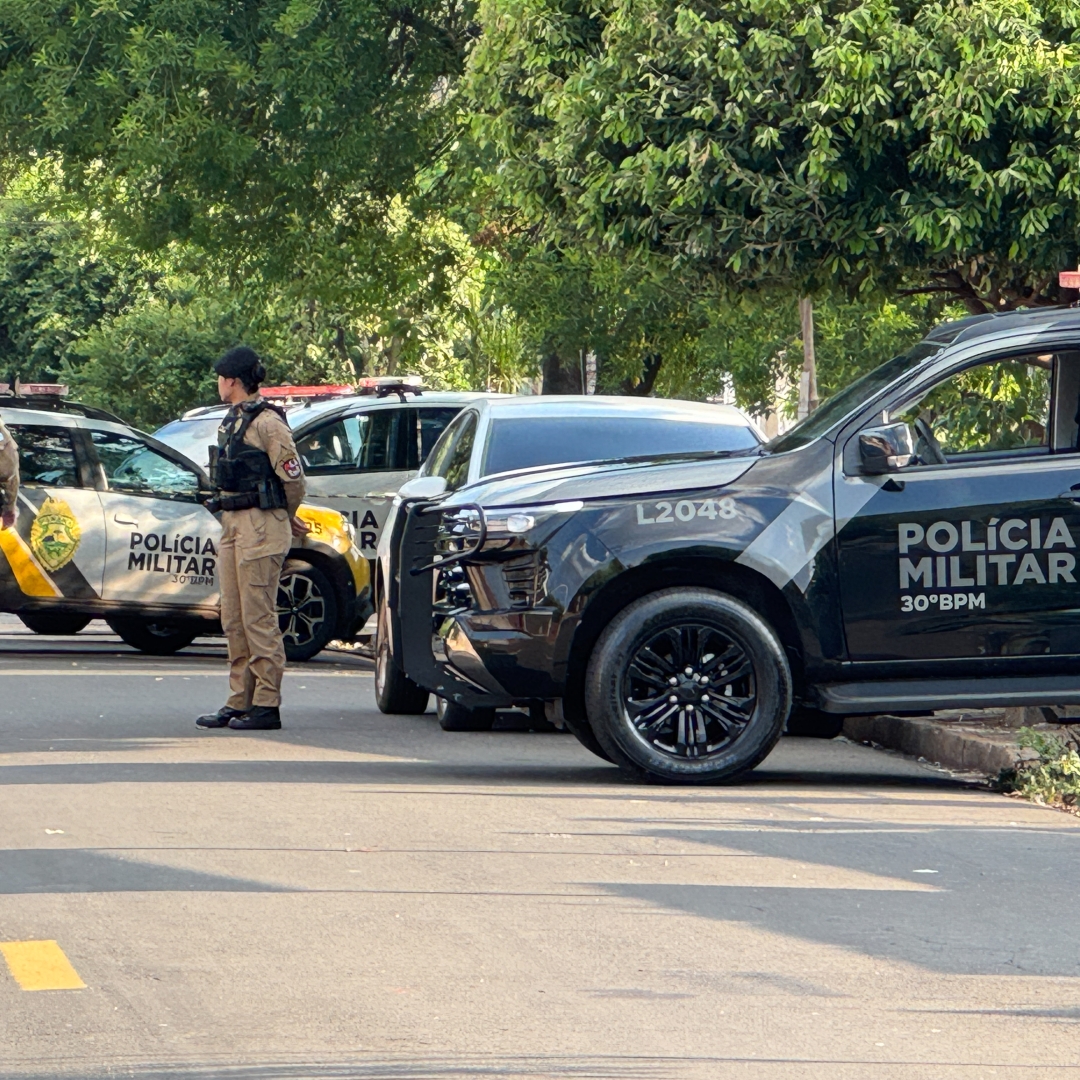
[[[818,692],[824,712],[846,716],[934,708],[1077,705],[1080,704],[1080,676],[827,683],[820,686]]]

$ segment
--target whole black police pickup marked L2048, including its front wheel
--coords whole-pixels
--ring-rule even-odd
[[[789,714],[1080,702],[1078,407],[1080,310],[977,315],[764,448],[427,492],[390,538],[380,701],[543,702],[689,783]]]

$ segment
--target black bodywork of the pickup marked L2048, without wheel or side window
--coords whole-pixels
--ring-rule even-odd
[[[862,468],[862,432],[990,363],[1045,381],[1045,414],[1016,428],[1030,445]],[[818,707],[1032,703],[1039,677],[1054,702],[1069,700],[1080,311],[948,324],[875,374],[865,396],[832,413],[826,403],[818,430],[761,454],[531,471],[414,504],[393,540],[389,597],[405,672],[470,706],[564,699],[580,710],[611,616],[665,584],[697,583],[766,613],[797,696]],[[492,527],[515,508],[535,527]]]

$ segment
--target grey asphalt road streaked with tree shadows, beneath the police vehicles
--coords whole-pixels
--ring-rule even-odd
[[[1072,818],[842,741],[637,786],[383,717],[343,653],[291,671],[285,730],[200,732],[220,646],[99,625],[0,618],[0,950],[85,984],[9,949],[4,1077],[1080,1072]]]

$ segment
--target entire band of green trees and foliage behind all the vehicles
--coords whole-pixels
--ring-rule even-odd
[[[792,408],[1074,299],[1067,0],[0,0],[0,378],[152,428],[274,380]],[[958,307],[959,306],[959,307]],[[779,388],[779,391],[778,391]]]

